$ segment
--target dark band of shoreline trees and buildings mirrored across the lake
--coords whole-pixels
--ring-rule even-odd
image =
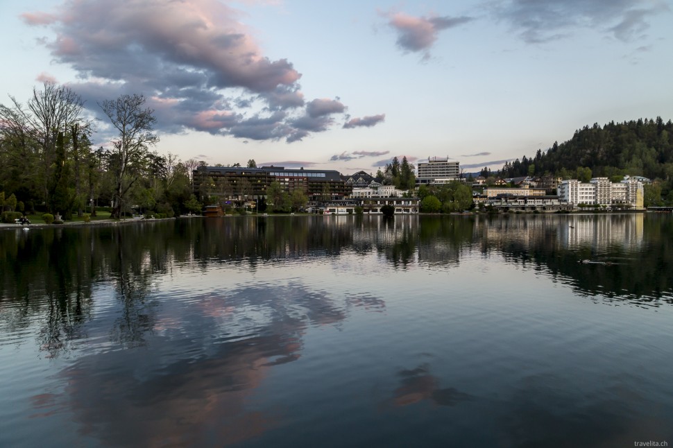
[[[393,268],[446,270],[478,248],[542,270],[581,295],[638,304],[673,303],[670,216],[414,216],[224,218],[102,228],[0,232],[0,303],[15,330],[41,316],[39,345],[71,350],[92,318],[94,285],[109,282],[121,302],[110,334],[133,347],[155,323],[149,299],[157,275],[212,263],[253,272],[283,259],[374,252]],[[582,262],[584,261],[584,262]],[[362,302],[359,298],[353,302]]]

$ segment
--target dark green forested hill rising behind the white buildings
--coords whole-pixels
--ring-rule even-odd
[[[673,123],[661,117],[638,119],[603,127],[575,131],[572,139],[554,145],[533,157],[506,163],[500,175],[513,178],[525,175],[572,177],[578,168],[588,168],[594,177],[643,175],[646,178],[673,180]]]

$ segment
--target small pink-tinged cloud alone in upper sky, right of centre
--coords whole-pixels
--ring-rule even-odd
[[[383,14],[388,25],[398,34],[397,44],[402,51],[425,51],[423,59],[429,58],[427,50],[437,40],[440,31],[455,28],[472,21],[472,17],[414,17],[403,12]]]

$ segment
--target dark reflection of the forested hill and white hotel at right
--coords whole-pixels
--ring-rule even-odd
[[[544,268],[583,294],[673,303],[670,216],[510,216],[484,222],[479,232],[482,250]]]

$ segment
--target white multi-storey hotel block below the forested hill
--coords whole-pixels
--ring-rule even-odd
[[[559,200],[575,207],[590,205],[600,207],[629,207],[643,209],[642,182],[625,178],[621,182],[610,182],[608,178],[593,178],[590,182],[577,179],[563,180],[557,188]]]

